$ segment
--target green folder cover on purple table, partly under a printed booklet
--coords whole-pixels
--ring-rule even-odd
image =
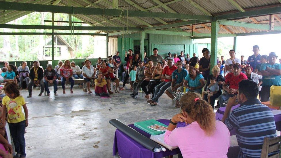
[[[151,128],[148,128],[147,126],[151,126],[151,125],[162,125],[162,126],[165,126],[165,127],[168,127],[167,125],[159,122],[159,121],[156,121],[155,119],[151,119],[151,120],[147,120],[147,121],[140,121],[140,122],[135,122],[134,123],[134,126],[138,127],[139,129],[151,134],[151,135],[158,135],[158,134],[163,134],[165,132],[161,132],[161,131],[155,131]]]

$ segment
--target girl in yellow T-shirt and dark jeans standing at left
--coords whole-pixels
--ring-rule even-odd
[[[1,117],[8,117],[10,133],[16,150],[16,157],[25,158],[25,139],[24,130],[28,126],[28,111],[24,98],[20,95],[18,85],[15,82],[9,81],[4,86],[6,96],[2,99],[2,112]],[[24,113],[22,113],[22,107]],[[5,126],[6,122],[3,122]]]

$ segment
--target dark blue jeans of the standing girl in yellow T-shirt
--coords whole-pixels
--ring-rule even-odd
[[[25,156],[25,120],[18,123],[9,123],[9,129],[13,138],[16,153],[20,154],[20,156]]]

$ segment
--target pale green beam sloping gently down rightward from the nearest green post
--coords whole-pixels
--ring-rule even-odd
[[[261,29],[261,30],[270,30],[269,25],[265,24],[253,24],[253,23],[243,23],[243,22],[236,22],[236,21],[219,21],[222,25],[230,25],[230,26],[238,26],[238,27],[246,27],[246,28],[255,28],[255,29]],[[275,31],[281,31],[281,26],[275,26]]]

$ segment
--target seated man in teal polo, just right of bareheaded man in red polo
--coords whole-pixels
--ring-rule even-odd
[[[176,62],[177,69],[172,73],[172,85],[165,91],[168,97],[174,99],[175,96],[172,92],[183,92],[183,81],[188,74],[187,70],[183,68],[181,61]],[[176,107],[179,106],[179,101],[176,102]]]

